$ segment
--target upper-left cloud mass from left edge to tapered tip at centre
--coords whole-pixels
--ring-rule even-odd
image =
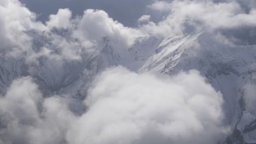
[[[104,37],[118,51],[144,35],[113,20],[103,10],[88,9],[83,16],[72,18],[71,10],[59,9],[45,25],[18,0],[2,2],[0,11],[1,50],[6,56],[25,58],[27,63],[38,63],[42,57],[80,61],[84,55],[102,50]]]

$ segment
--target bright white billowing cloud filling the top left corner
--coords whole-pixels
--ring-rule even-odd
[[[30,38],[24,33],[28,29],[45,29],[42,22],[36,22],[36,14],[25,8],[19,1],[5,1],[0,5],[1,41],[2,49],[12,47],[13,53],[22,53],[28,50]]]

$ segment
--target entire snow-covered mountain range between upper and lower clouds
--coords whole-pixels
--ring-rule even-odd
[[[46,43],[48,39],[34,37],[35,45]],[[225,143],[256,143],[256,109],[248,110],[244,98],[245,85],[256,81],[255,56],[256,45],[220,42],[215,35],[202,31],[165,39],[140,37],[127,50],[117,50],[104,37],[96,55],[83,55],[81,61],[61,64],[43,57],[32,70],[24,59],[10,59],[0,53],[0,93],[4,94],[14,79],[32,75],[43,92],[72,95],[71,108],[79,113],[84,110],[81,103],[90,82],[106,68],[123,65],[138,73],[168,75],[196,69],[224,96],[225,123],[234,131]]]

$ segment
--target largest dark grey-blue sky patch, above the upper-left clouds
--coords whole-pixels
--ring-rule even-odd
[[[69,8],[73,15],[82,15],[85,9],[102,9],[125,26],[135,26],[137,19],[148,13],[147,5],[154,0],[20,0],[31,11],[39,14],[38,20],[48,20],[60,8]]]

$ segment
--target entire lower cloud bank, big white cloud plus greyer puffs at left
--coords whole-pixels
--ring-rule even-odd
[[[222,95],[195,70],[170,77],[108,69],[81,116],[65,97],[43,98],[30,77],[15,80],[0,104],[2,143],[216,143],[227,132]]]

